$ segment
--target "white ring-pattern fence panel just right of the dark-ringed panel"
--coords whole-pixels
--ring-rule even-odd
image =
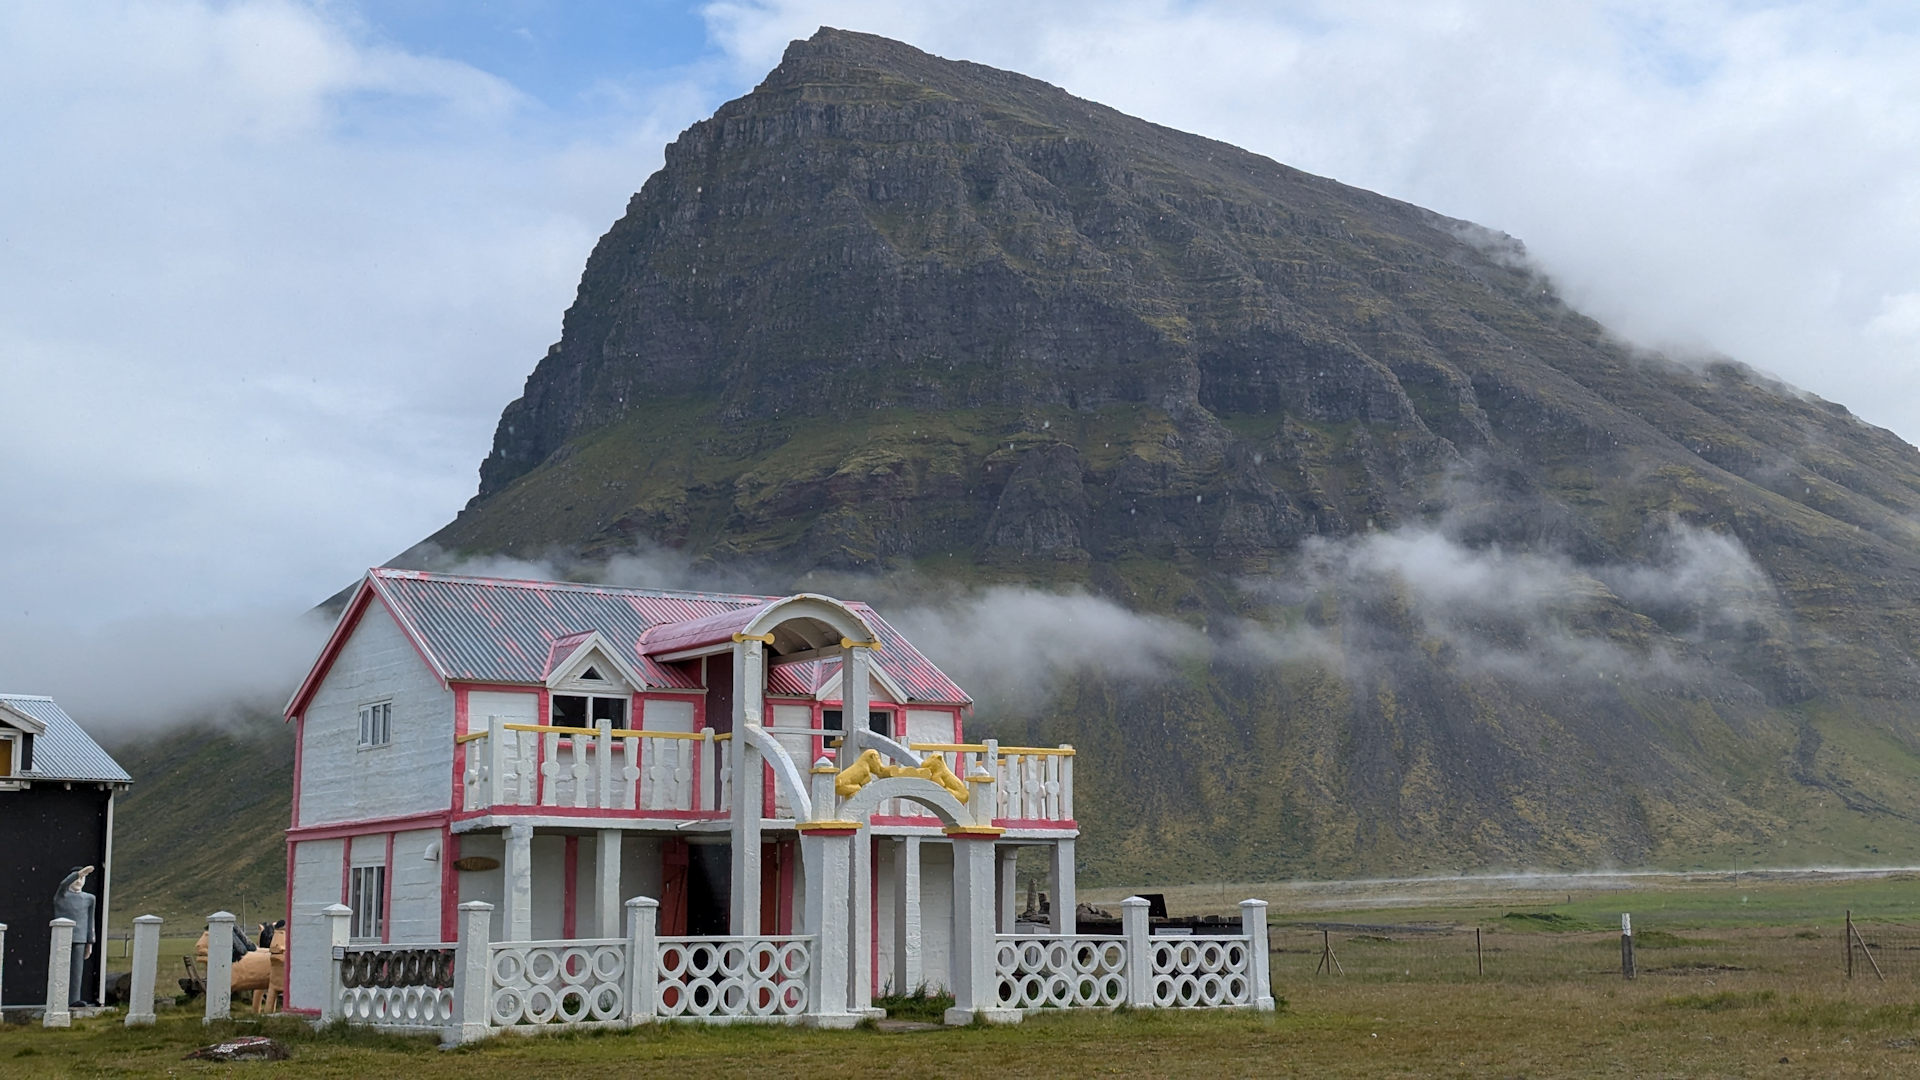
[[[495,1028],[626,1020],[626,940],[497,942],[488,963]]]

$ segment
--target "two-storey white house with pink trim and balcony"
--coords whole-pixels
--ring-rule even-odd
[[[968,711],[862,603],[369,571],[286,707],[288,1007],[332,1007],[336,920],[355,947],[445,944],[470,901],[493,942],[618,938],[622,901],[657,897],[662,942],[778,944],[835,896],[852,1009],[977,984],[956,849],[1012,934],[1014,855],[1044,847],[1069,936],[1079,828],[1071,748],[970,744]],[[845,888],[808,894],[839,836]]]

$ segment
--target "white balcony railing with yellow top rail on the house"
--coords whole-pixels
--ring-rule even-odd
[[[816,728],[762,728],[785,748],[799,773],[828,748],[837,732]],[[465,813],[536,815],[591,811],[605,817],[664,821],[724,821],[732,817],[732,734],[559,728],[507,723],[493,717],[486,730],[459,736],[465,749]],[[939,755],[956,776],[987,769],[995,778],[995,821],[1006,828],[1075,828],[1073,748],[977,744],[912,744],[910,751]],[[889,765],[893,757],[885,759]],[[793,809],[776,792],[774,773],[760,767],[762,817],[793,821]],[[891,799],[874,813],[877,826],[931,826],[931,813],[906,799]]]

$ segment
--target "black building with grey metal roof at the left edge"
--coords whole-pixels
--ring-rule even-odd
[[[94,867],[98,915],[84,994],[98,1001],[113,884],[113,796],[132,782],[52,698],[0,694],[0,1003],[46,1003],[54,892],[75,867]]]

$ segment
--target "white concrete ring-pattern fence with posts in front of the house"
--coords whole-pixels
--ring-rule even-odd
[[[1121,909],[1117,936],[998,934],[973,951],[956,947],[948,1022],[1119,1005],[1273,1009],[1265,901],[1244,901],[1242,932],[1225,936],[1154,936],[1144,899]],[[493,942],[493,905],[482,901],[459,907],[457,942],[355,945],[351,909],[336,903],[326,919],[332,963],[321,1022],[457,1043],[657,1020],[843,1026],[877,1015],[847,967],[822,963],[818,936],[660,938],[659,901],[649,897],[626,901],[620,938]]]

